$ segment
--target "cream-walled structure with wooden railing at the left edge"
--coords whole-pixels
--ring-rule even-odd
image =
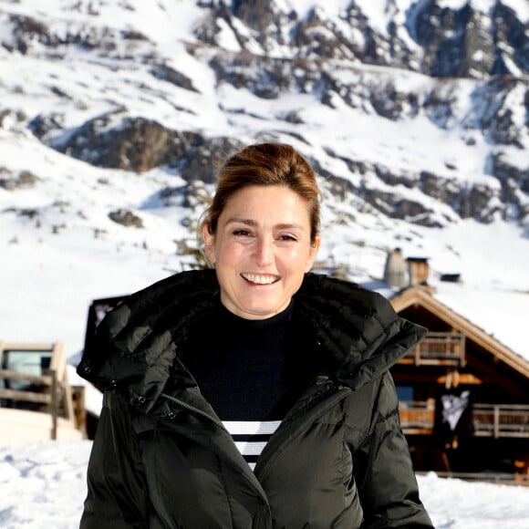
[[[0,444],[84,439],[83,397],[60,342],[0,341]]]

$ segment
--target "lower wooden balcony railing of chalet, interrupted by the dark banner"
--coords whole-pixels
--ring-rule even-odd
[[[430,435],[435,422],[435,402],[401,401],[400,423],[407,435]],[[475,437],[529,439],[529,405],[474,404],[472,422]]]

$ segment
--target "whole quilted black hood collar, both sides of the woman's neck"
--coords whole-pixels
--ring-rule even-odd
[[[399,317],[383,296],[327,275],[307,274],[294,297],[296,317],[327,356],[327,376],[351,389],[378,377],[427,332]],[[218,303],[213,270],[172,275],[140,290],[88,337],[79,376],[100,389],[126,389],[146,409],[170,375],[181,388],[192,388],[178,348]]]

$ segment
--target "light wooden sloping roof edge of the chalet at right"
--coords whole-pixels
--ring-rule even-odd
[[[495,358],[519,371],[529,379],[529,360],[505,346],[497,338],[478,327],[466,317],[458,314],[449,306],[436,299],[430,290],[422,285],[414,285],[389,296],[391,305],[396,312],[401,312],[410,306],[422,306],[434,316],[449,324],[455,330],[462,332],[474,343],[489,351]]]

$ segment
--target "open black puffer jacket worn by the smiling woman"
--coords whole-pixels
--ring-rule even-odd
[[[425,330],[323,275],[295,300],[318,368],[254,472],[179,355],[219,303],[214,273],[174,275],[105,318],[78,366],[105,389],[82,529],[431,527],[388,373]]]

